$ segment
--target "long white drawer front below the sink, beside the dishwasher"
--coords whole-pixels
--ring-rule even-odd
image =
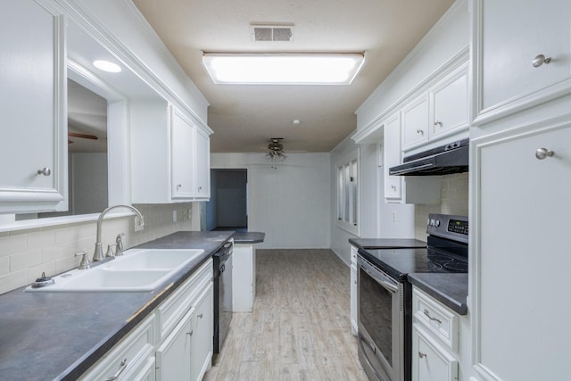
[[[188,311],[191,301],[203,289],[202,285],[207,285],[212,278],[212,260],[204,262],[184,284],[178,287],[170,298],[157,308],[157,327],[159,330],[159,340],[169,335],[172,328],[178,323],[180,318]]]

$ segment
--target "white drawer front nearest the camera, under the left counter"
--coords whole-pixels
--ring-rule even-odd
[[[81,380],[102,380],[119,374],[120,379],[137,379],[154,353],[154,314],[126,335],[111,351],[81,376]]]

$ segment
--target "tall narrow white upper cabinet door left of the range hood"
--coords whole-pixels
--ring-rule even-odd
[[[402,178],[390,176],[389,168],[401,164],[401,118],[397,113],[385,122],[385,199],[400,202]]]

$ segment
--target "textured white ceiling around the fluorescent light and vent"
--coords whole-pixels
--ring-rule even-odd
[[[418,44],[452,0],[133,0],[211,104],[211,151],[329,152],[357,127],[355,110]],[[293,23],[293,42],[253,42],[252,23]],[[350,86],[214,85],[202,52],[367,52]],[[299,126],[293,120],[301,120]]]

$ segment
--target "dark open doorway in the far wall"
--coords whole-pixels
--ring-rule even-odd
[[[211,201],[205,214],[206,230],[247,231],[247,170],[211,170]]]

